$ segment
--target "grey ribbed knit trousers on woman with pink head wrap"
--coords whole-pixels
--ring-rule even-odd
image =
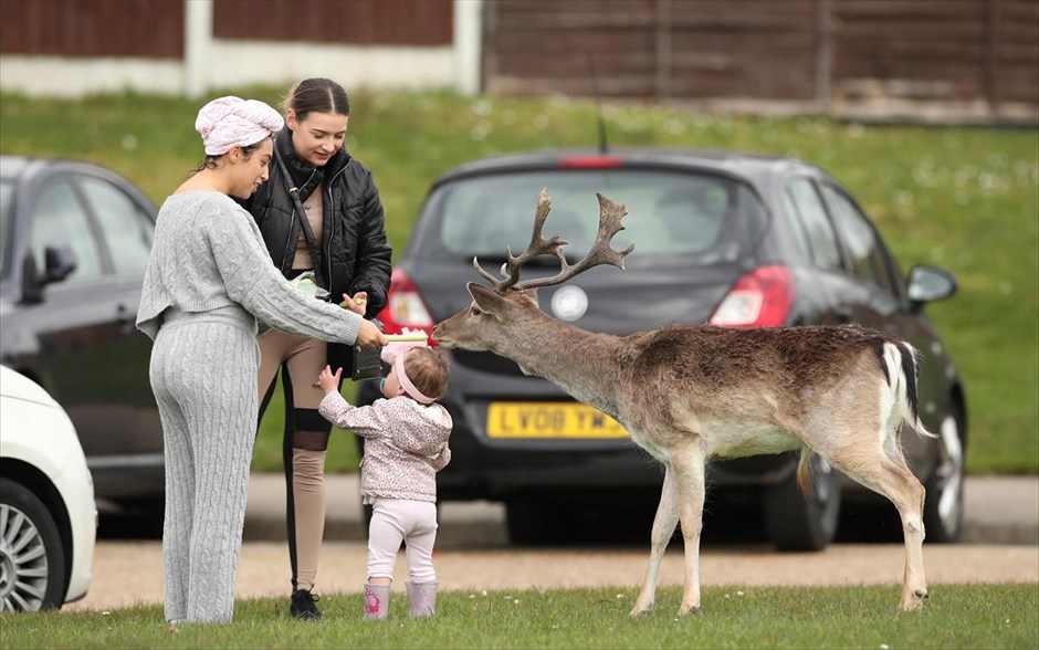
[[[168,314],[156,336],[150,378],[166,445],[170,622],[225,622],[234,614],[259,361],[255,319],[240,307]]]

